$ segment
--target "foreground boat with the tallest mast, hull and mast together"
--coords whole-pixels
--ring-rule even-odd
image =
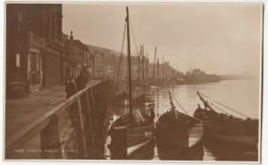
[[[112,153],[126,157],[150,144],[154,140],[154,119],[132,105],[131,61],[130,61],[130,22],[127,7],[127,39],[128,39],[128,70],[129,70],[129,112],[113,122],[110,129],[112,138],[109,146]]]

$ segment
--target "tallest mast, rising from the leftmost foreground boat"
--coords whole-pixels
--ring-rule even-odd
[[[128,37],[128,60],[129,60],[129,103],[130,103],[130,119],[132,118],[132,86],[131,86],[131,57],[130,57],[130,17],[129,7],[127,7],[127,37]]]

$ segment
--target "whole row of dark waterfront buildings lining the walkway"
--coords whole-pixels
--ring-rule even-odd
[[[81,70],[103,78],[105,54],[63,34],[62,4],[6,4],[6,90],[64,85]]]

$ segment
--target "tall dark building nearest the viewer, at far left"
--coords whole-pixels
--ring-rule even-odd
[[[6,4],[6,84],[63,84],[62,4]]]

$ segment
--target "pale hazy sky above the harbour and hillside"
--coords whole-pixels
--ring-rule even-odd
[[[181,71],[259,74],[261,4],[129,4],[136,43]],[[120,52],[124,4],[63,4],[63,32]],[[133,41],[133,40],[132,40]],[[132,42],[131,51],[135,45]]]

